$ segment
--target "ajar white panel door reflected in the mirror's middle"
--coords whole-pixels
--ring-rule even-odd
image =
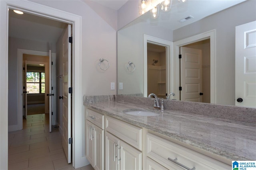
[[[202,102],[202,50],[180,47],[180,100]]]

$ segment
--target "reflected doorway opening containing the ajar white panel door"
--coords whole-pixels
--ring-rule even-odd
[[[210,39],[180,47],[180,100],[210,103]]]

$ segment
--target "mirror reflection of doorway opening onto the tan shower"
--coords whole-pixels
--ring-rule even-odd
[[[166,47],[147,43],[148,94],[166,98]]]

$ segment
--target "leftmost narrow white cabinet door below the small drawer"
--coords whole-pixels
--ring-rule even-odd
[[[93,141],[92,141],[93,124],[86,120],[86,156],[87,160],[93,166]]]

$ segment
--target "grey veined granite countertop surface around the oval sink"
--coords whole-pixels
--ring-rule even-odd
[[[144,127],[230,160],[256,160],[256,125],[126,102],[86,104],[105,115]],[[159,116],[134,116],[124,109],[148,108]]]

